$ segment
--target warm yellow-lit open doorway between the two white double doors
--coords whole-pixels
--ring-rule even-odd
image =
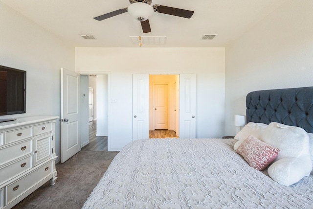
[[[179,75],[149,75],[149,138],[179,137]]]

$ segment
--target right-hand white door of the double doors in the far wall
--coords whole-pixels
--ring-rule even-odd
[[[196,74],[179,77],[179,138],[196,138]]]

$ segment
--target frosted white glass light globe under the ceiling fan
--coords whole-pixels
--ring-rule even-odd
[[[154,9],[147,3],[137,2],[129,5],[127,11],[134,19],[143,22],[153,15]]]

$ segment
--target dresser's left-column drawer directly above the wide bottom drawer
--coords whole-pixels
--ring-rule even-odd
[[[0,184],[32,168],[32,156],[0,168]]]

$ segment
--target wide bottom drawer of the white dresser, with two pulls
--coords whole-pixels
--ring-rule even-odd
[[[18,181],[6,186],[6,204],[11,203],[22,193],[52,174],[51,168],[52,162],[45,163],[45,165],[36,169],[34,172],[31,172]]]

